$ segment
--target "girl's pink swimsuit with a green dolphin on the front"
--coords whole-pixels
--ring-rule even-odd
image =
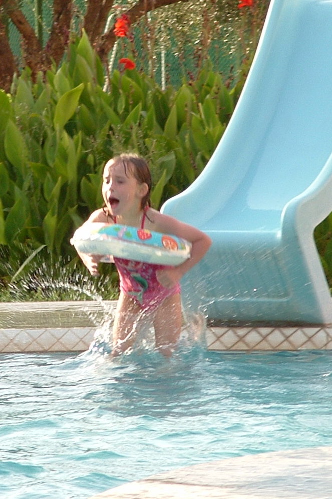
[[[146,212],[144,211],[141,228],[144,228]],[[116,223],[116,220],[115,220]],[[165,265],[148,264],[134,260],[114,257],[114,263],[120,276],[120,290],[132,297],[142,308],[152,312],[169,296],[180,293],[180,284],[173,288],[164,288],[158,281],[156,272],[166,269]]]

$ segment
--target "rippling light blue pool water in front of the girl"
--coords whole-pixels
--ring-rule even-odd
[[[156,472],[332,445],[332,353],[0,355],[0,497],[87,499]]]

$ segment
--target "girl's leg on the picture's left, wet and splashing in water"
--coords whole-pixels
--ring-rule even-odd
[[[129,296],[121,292],[113,325],[112,356],[119,355],[133,346],[137,325],[141,318],[141,308]]]

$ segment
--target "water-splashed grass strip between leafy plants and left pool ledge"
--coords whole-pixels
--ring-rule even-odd
[[[31,258],[34,255],[34,258]],[[47,249],[24,245],[0,247],[0,302],[116,300],[118,274],[101,264],[101,276],[90,276],[78,257],[55,261]]]

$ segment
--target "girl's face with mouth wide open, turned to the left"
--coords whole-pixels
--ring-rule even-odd
[[[136,214],[141,210],[141,199],[146,194],[147,184],[139,184],[122,163],[114,165],[111,159],[104,168],[102,194],[112,215]]]

